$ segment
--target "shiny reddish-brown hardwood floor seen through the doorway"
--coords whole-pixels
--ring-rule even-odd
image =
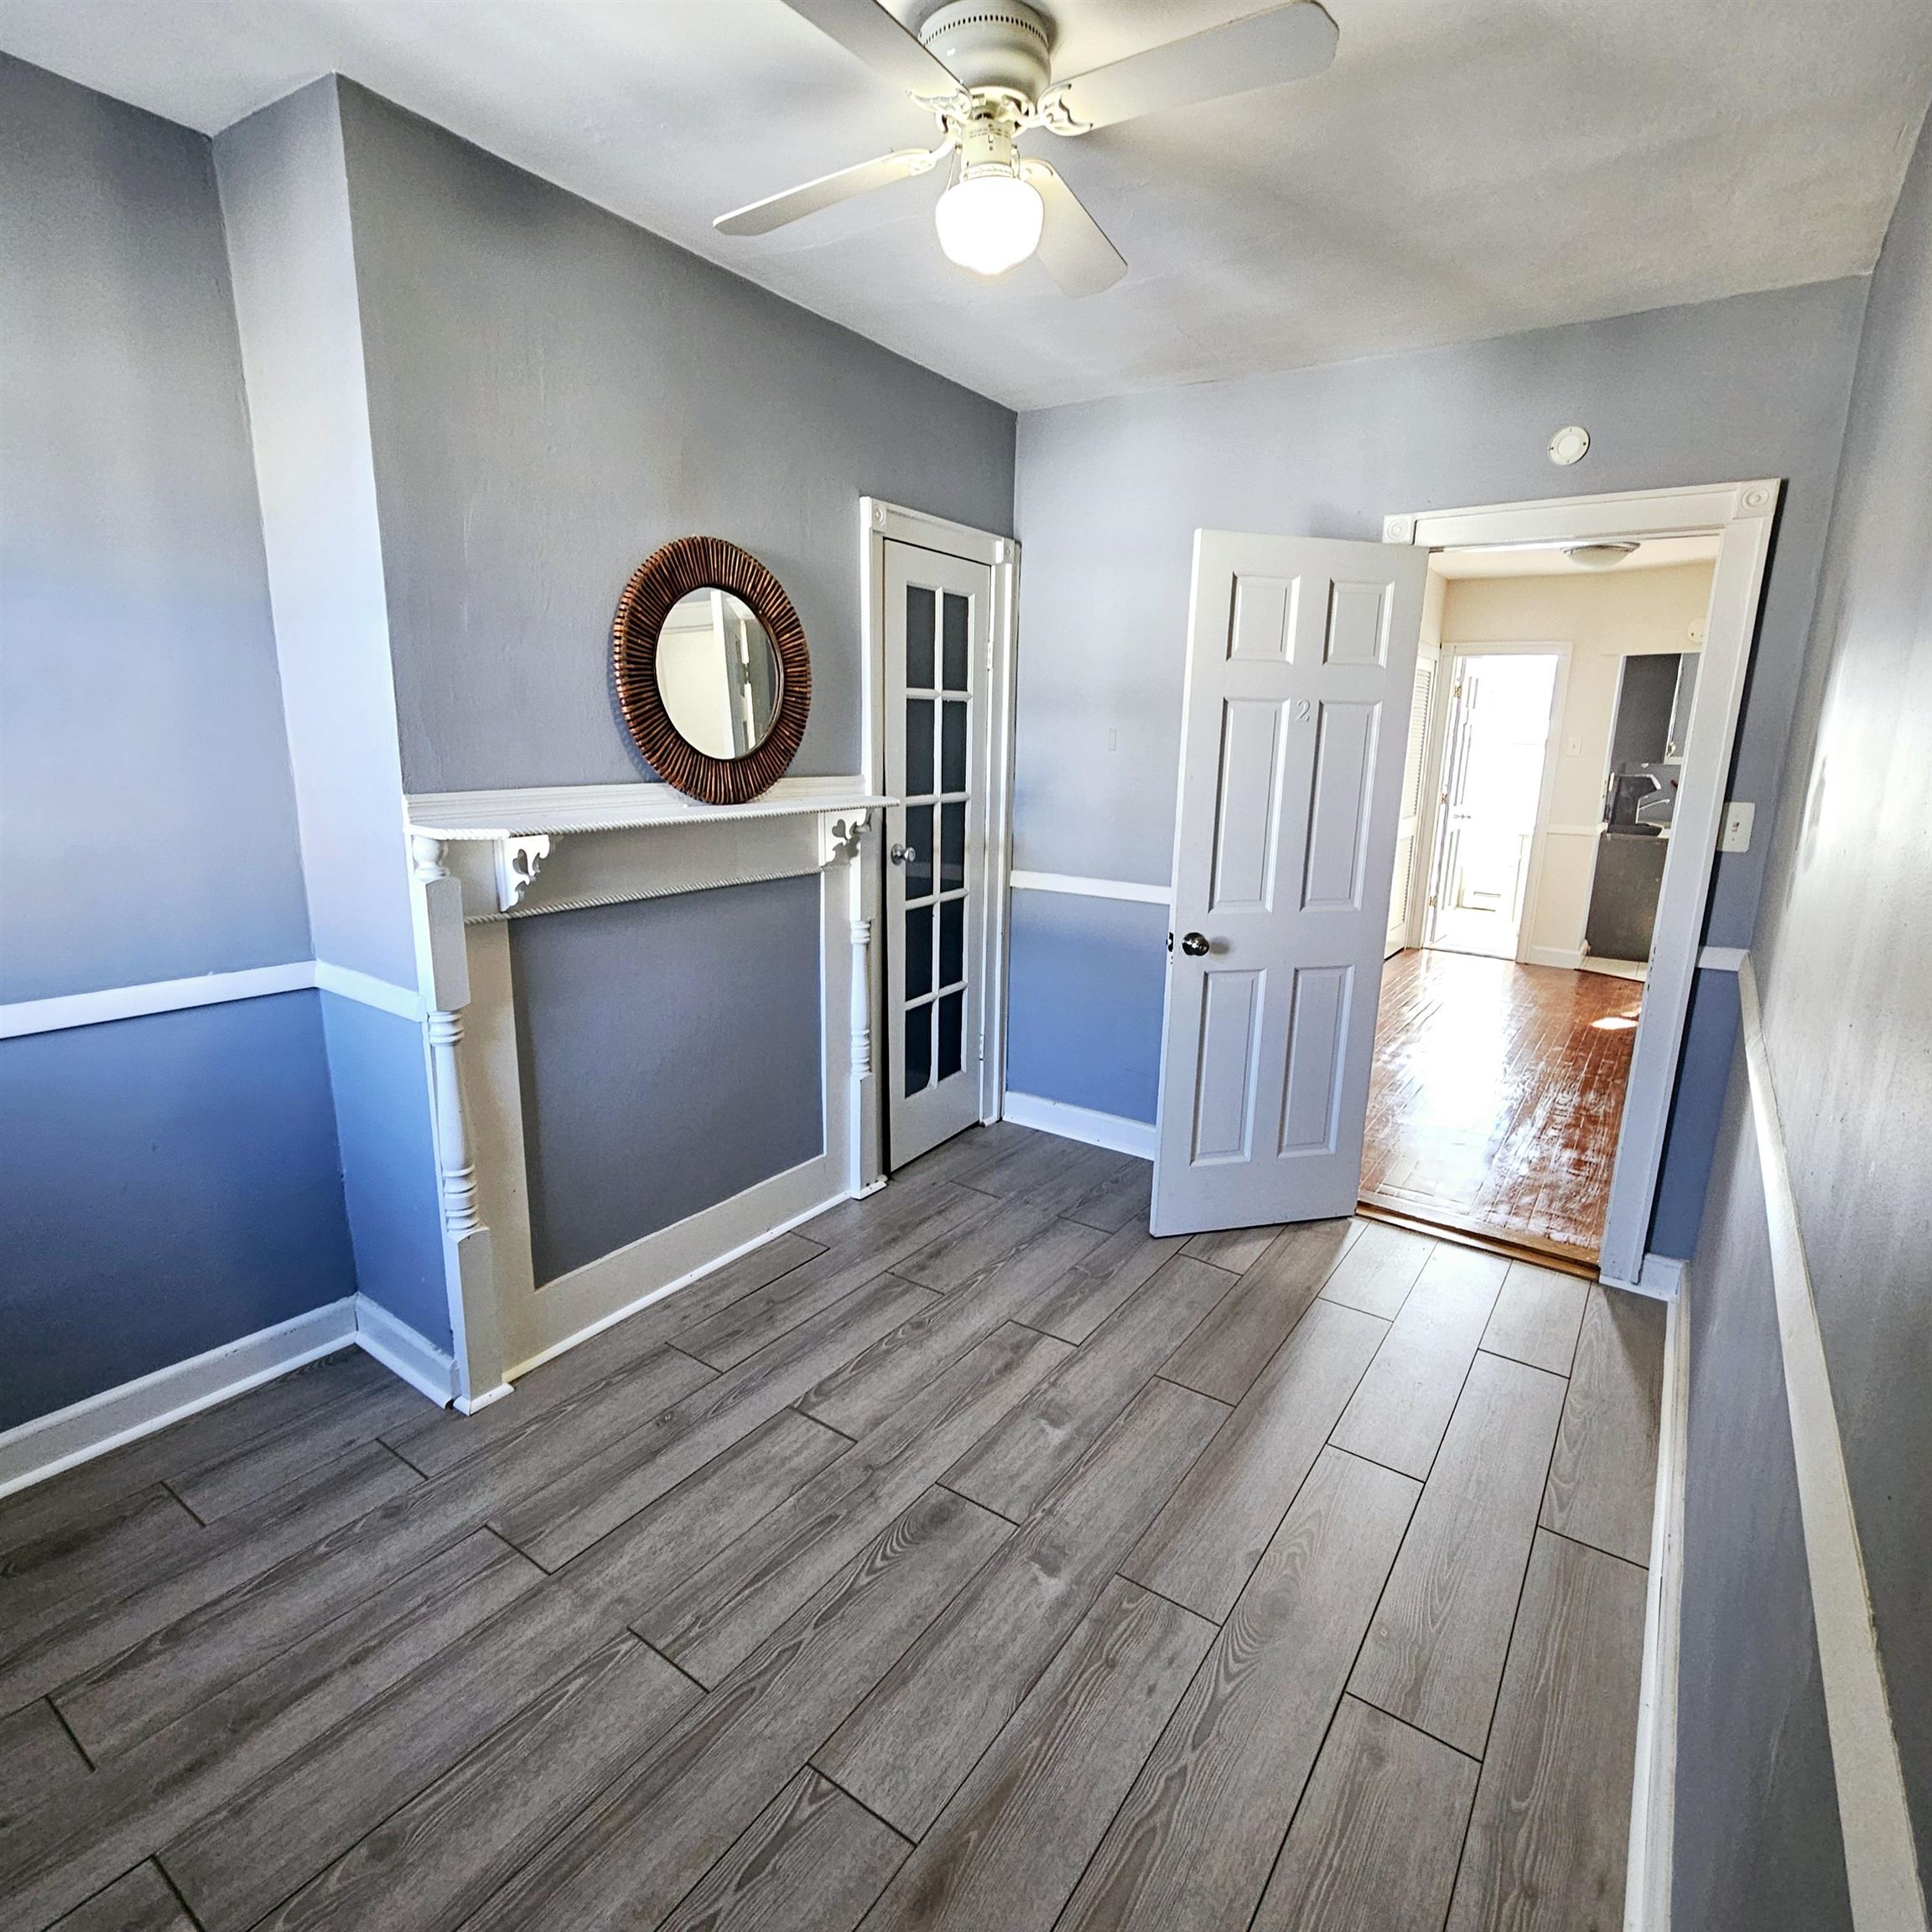
[[[1596,1262],[1642,985],[1412,949],[1383,968],[1362,1200]]]

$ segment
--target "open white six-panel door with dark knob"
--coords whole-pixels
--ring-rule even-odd
[[[1194,535],[1157,1235],[1354,1209],[1426,574]]]

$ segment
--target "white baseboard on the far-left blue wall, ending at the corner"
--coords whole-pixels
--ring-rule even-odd
[[[344,1298],[21,1422],[0,1435],[0,1495],[153,1435],[355,1339],[355,1302]]]

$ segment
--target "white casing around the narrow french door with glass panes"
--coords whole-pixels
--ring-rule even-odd
[[[867,790],[885,781],[885,545],[912,543],[922,551],[962,556],[993,572],[993,609],[987,624],[985,678],[985,873],[980,881],[985,920],[980,935],[980,1121],[1001,1115],[1007,1097],[1007,956],[1010,939],[1009,887],[1012,883],[1012,709],[1014,643],[1020,614],[1020,545],[989,529],[954,524],[923,510],[860,497],[860,612],[864,622],[864,775]],[[873,908],[871,918],[879,914]],[[887,941],[891,935],[885,935]],[[885,1034],[885,974],[879,947],[871,947],[871,1037]],[[877,1134],[873,1146],[877,1146]]]

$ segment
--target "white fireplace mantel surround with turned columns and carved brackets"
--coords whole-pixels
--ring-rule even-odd
[[[417,792],[406,833],[429,1009],[462,1406],[726,1254],[881,1184],[873,1072],[879,808],[860,777],[786,777],[744,806],[668,784]],[[556,1281],[531,1271],[510,925],[817,873],[823,1151]]]

